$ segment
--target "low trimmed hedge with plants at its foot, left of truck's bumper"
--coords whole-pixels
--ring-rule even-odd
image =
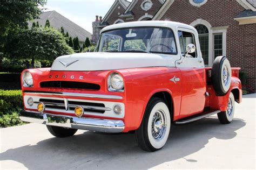
[[[21,90],[0,90],[0,128],[24,124],[18,117],[22,109]]]

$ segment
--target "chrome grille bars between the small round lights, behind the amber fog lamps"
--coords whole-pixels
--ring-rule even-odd
[[[106,108],[103,103],[69,101],[67,98],[61,98],[59,100],[40,98],[39,102],[45,104],[45,109],[58,109],[62,111],[75,110],[77,106],[83,107],[85,112],[95,112],[99,114],[104,114],[105,111],[111,110],[111,108]]]

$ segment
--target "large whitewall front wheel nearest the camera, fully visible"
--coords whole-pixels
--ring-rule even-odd
[[[144,151],[157,151],[165,145],[170,128],[171,116],[167,105],[161,98],[152,98],[139,129],[135,131],[137,142]]]

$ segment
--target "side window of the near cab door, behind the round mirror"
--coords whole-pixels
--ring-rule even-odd
[[[186,47],[188,44],[194,44],[196,45],[196,41],[194,39],[194,35],[190,32],[185,31],[178,31],[179,36],[179,42],[180,42],[180,49],[181,49],[181,55],[185,56],[187,51]],[[197,57],[197,51],[194,53],[189,53],[193,58]]]

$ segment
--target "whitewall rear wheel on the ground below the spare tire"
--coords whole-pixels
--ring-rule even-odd
[[[221,124],[231,123],[234,117],[234,109],[235,109],[235,100],[233,93],[230,93],[230,97],[228,98],[227,110],[221,111],[218,114],[218,118]]]

